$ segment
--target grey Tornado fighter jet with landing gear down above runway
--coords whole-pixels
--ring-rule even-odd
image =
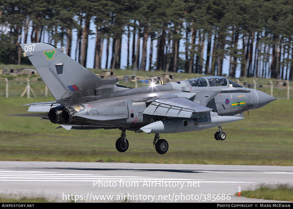
[[[243,119],[243,112],[275,100],[259,90],[244,88],[224,77],[207,76],[140,88],[100,79],[48,43],[21,44],[56,101],[28,104],[28,112],[14,116],[48,119],[67,130],[121,130],[116,149],[125,152],[126,130],[154,133],[159,154],[168,151],[160,133],[181,133],[218,127],[216,140],[225,140],[222,124]]]

